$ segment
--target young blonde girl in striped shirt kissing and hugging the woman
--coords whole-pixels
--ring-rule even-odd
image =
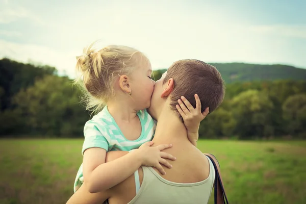
[[[151,147],[155,122],[146,108],[150,106],[155,81],[151,79],[149,60],[131,47],[110,45],[94,50],[93,45],[77,58],[77,69],[83,78],[78,82],[88,96],[87,109],[102,110],[84,126],[83,164],[75,178],[74,192],[81,185],[90,193],[109,189],[141,165],[156,167],[164,174],[161,164],[171,168],[166,159],[175,160],[162,152],[171,144]],[[179,104],[181,115],[184,111],[182,116],[188,121],[184,120],[188,137],[197,138],[199,122],[207,113],[188,110],[181,100]],[[107,151],[112,150],[133,151],[105,163]]]

